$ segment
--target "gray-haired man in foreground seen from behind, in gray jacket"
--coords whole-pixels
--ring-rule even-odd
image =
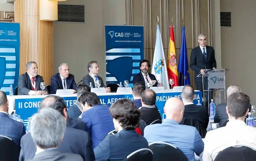
[[[83,161],[81,155],[58,151],[57,146],[62,142],[65,130],[65,118],[53,108],[45,107],[33,115],[30,133],[36,153],[29,161]]]

